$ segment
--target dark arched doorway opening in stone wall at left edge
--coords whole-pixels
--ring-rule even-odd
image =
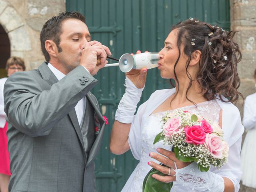
[[[10,40],[2,25],[0,25],[0,78],[6,77],[5,65],[10,57]]]

